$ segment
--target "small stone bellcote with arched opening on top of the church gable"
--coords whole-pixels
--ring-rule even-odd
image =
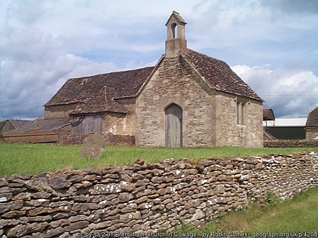
[[[165,41],[165,56],[172,56],[185,52],[187,41],[185,39],[185,20],[176,11],[165,23],[167,27],[167,40]]]

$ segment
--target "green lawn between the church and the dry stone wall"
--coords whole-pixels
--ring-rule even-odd
[[[38,174],[68,166],[84,169],[87,166],[100,168],[108,165],[134,163],[138,158],[156,162],[168,158],[199,160],[202,158],[264,155],[270,153],[293,153],[313,151],[318,148],[163,148],[106,146],[101,159],[79,158],[80,145],[15,144],[0,142],[0,177],[18,174]]]

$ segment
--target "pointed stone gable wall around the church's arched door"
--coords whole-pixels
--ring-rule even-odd
[[[182,57],[165,57],[136,100],[136,145],[165,146],[165,108],[182,108],[183,146],[215,146],[215,97]]]

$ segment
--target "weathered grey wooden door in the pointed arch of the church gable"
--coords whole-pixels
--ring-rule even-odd
[[[182,147],[182,109],[176,104],[165,110],[165,146]]]

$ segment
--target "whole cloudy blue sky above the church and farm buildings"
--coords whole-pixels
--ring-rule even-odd
[[[0,0],[0,120],[43,117],[68,78],[155,65],[172,10],[276,118],[318,106],[318,0]]]

